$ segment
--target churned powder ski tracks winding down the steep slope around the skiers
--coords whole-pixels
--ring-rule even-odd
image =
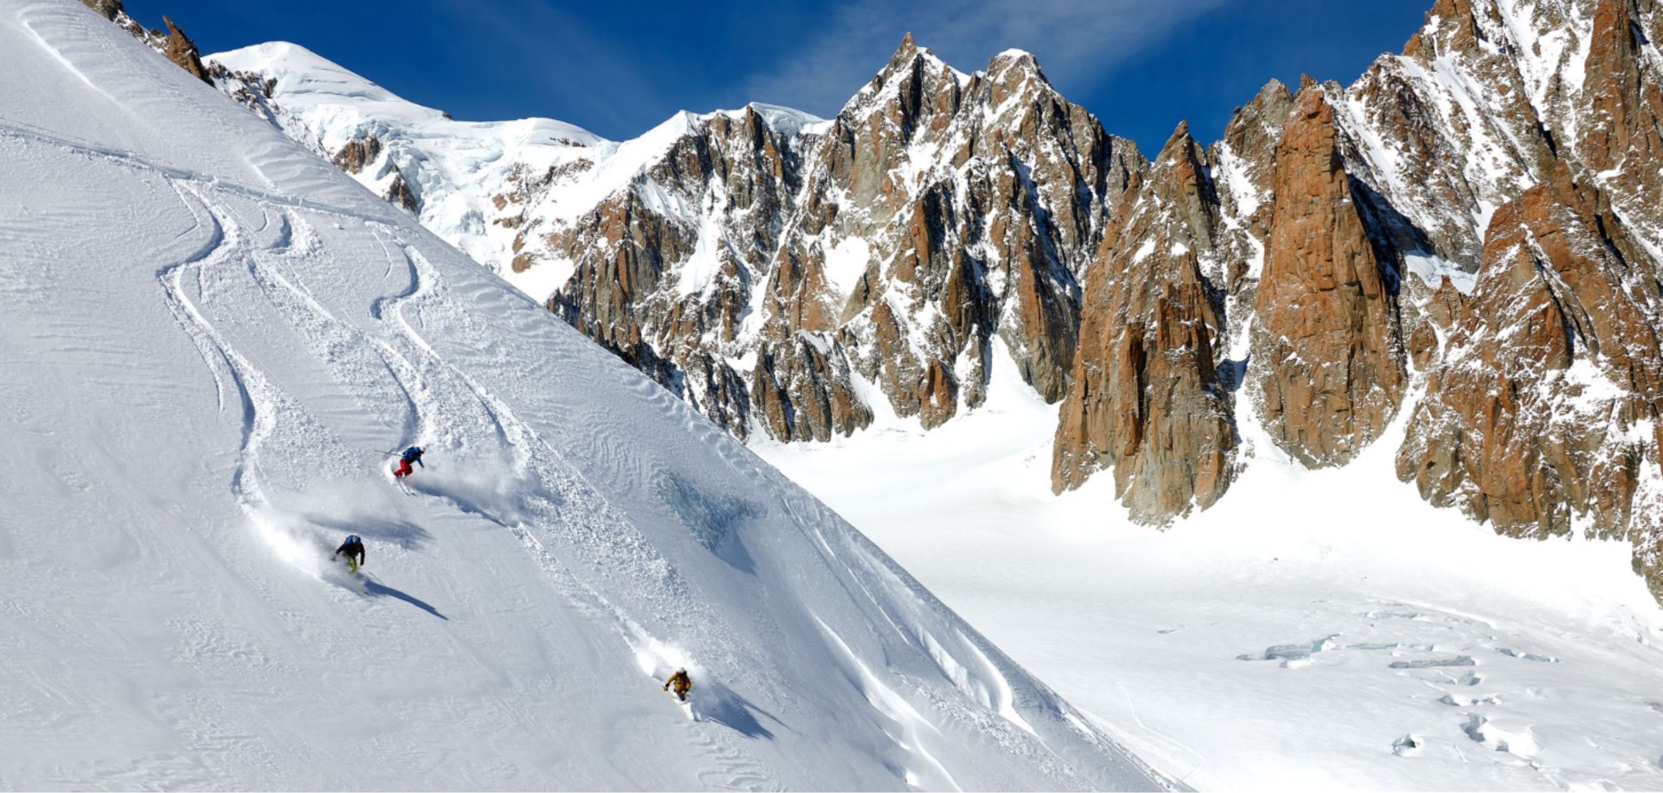
[[[7,133],[17,135],[15,130],[0,130],[0,135]],[[246,289],[248,284],[258,289],[331,379],[353,394],[358,407],[376,414],[401,444],[437,446],[446,459],[466,459],[484,474],[469,479],[456,470],[447,475],[432,475],[436,472],[429,470],[424,472],[429,474],[426,479],[412,482],[419,492],[511,532],[579,613],[610,623],[637,657],[657,655],[662,662],[670,662],[662,653],[664,642],[587,584],[587,575],[629,580],[632,592],[645,595],[654,610],[669,620],[715,623],[687,597],[685,584],[674,567],[587,485],[557,449],[427,341],[424,331],[429,323],[449,332],[461,329],[464,337],[487,339],[489,332],[479,326],[477,318],[442,299],[441,274],[419,251],[397,238],[396,228],[318,204],[268,201],[271,196],[228,190],[226,183],[171,173],[120,153],[83,153],[163,173],[196,218],[195,228],[186,234],[205,236],[203,244],[158,269],[156,279],[170,311],[213,374],[221,411],[239,412],[241,444],[229,482],[231,494],[246,519],[288,562],[329,579],[319,560],[328,549],[318,545],[316,539],[309,544],[304,539],[294,542],[293,525],[284,524],[304,522],[304,515],[279,510],[269,492],[266,467],[276,462],[293,469],[303,462],[286,459],[296,449],[348,449],[353,444],[341,437],[339,427],[328,426],[339,424],[329,421],[328,406],[308,404],[304,396],[284,392],[233,342],[236,314],[248,308],[226,306],[226,311],[216,313],[213,304],[220,293]],[[256,234],[266,233],[274,223],[273,239],[256,243],[226,201],[248,201],[249,208],[278,203],[276,218],[259,208],[268,228],[254,229]],[[308,216],[368,223],[387,256],[389,273],[399,268],[409,273],[407,289],[373,303],[371,319],[376,326],[361,328],[334,316],[304,288],[304,279],[294,269],[319,264],[309,261],[318,256],[319,246]],[[660,394],[655,391],[652,397]],[[662,399],[672,397],[662,394]],[[389,409],[387,404],[397,407]],[[268,459],[274,437],[283,449],[276,459]],[[441,464],[441,470],[446,465],[449,464]],[[313,534],[318,535],[316,530]],[[587,575],[580,572],[584,569],[589,570]],[[698,775],[702,785],[768,790],[768,780],[777,778],[720,727],[693,723],[687,731],[690,751],[705,758],[707,770]]]

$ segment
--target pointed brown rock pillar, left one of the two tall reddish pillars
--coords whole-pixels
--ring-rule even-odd
[[[1086,278],[1081,351],[1056,432],[1053,485],[1114,469],[1131,515],[1166,522],[1229,485],[1236,434],[1216,374],[1217,199],[1206,153],[1181,126]]]

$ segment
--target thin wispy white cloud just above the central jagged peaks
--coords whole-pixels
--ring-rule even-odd
[[[963,71],[1008,48],[1033,52],[1059,88],[1086,90],[1182,22],[1231,0],[855,0],[750,76],[762,101],[830,115],[888,60],[901,35]]]

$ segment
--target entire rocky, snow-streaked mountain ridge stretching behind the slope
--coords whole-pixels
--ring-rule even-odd
[[[1113,472],[1139,520],[1221,499],[1252,422],[1310,467],[1397,444],[1503,532],[1626,537],[1663,592],[1658,33],[1653,0],[1437,0],[1352,85],[1272,81],[1154,161],[1031,55],[966,75],[910,37],[832,120],[624,143],[286,45],[210,65],[738,437],[940,426],[1014,366],[1059,402],[1056,489]]]

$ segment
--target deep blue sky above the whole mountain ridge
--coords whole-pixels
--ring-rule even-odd
[[[1146,155],[1202,141],[1269,78],[1342,83],[1399,52],[1432,0],[126,0],[205,53],[296,42],[466,120],[550,116],[620,140],[677,110],[822,116],[911,32],[965,71],[1029,50],[1064,96]]]

